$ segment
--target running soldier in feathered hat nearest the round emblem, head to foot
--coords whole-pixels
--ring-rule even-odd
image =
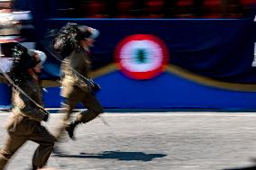
[[[79,123],[87,123],[94,120],[100,113],[104,112],[101,103],[96,99],[96,91],[100,89],[94,82],[88,82],[90,71],[90,47],[99,31],[77,23],[67,23],[63,26],[53,43],[63,59],[61,64],[60,95],[64,98],[63,108],[65,116],[61,124],[57,139],[67,130],[69,137],[74,139],[74,129]],[[82,103],[87,110],[80,112],[74,121],[70,122],[70,115],[78,103]],[[70,123],[69,123],[70,122]]]

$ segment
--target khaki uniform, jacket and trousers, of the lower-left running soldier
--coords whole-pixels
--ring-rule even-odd
[[[28,73],[26,74],[25,71],[23,71],[20,78],[17,78],[16,83],[18,82],[23,92],[28,94],[36,103],[42,105],[41,86],[37,80]],[[6,124],[7,137],[5,143],[0,150],[0,170],[5,168],[15,151],[27,140],[40,144],[33,155],[32,166],[33,169],[42,167],[50,157],[55,141],[49,131],[41,125],[41,121],[46,121],[47,115],[15,87],[13,87],[12,97],[14,108]]]

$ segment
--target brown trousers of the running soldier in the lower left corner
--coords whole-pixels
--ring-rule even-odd
[[[32,166],[42,167],[46,164],[53,149],[55,138],[40,125],[30,135],[15,134],[8,131],[4,147],[0,150],[0,170],[5,168],[5,165],[14,155],[15,151],[21,148],[27,140],[32,140],[39,144],[32,157]]]

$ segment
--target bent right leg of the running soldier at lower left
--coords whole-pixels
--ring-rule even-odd
[[[35,128],[30,140],[39,144],[32,157],[32,166],[41,168],[45,166],[53,150],[55,138],[43,126],[39,125]]]

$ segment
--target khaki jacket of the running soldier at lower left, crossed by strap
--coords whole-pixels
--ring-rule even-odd
[[[31,77],[23,80],[20,87],[36,103],[42,105],[41,86]],[[25,95],[13,88],[13,114],[7,122],[6,129],[16,134],[31,134],[45,117],[45,113],[38,109]]]

